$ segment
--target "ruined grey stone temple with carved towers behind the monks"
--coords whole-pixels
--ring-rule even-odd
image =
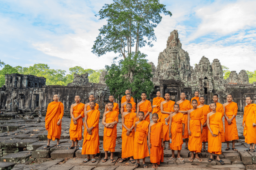
[[[243,112],[246,106],[246,96],[250,95],[253,102],[256,102],[256,82],[249,84],[245,70],[238,74],[231,71],[229,78],[225,80],[220,60],[214,59],[210,62],[205,56],[193,68],[188,52],[182,49],[177,30],[170,33],[166,48],[158,56],[158,65],[155,67],[154,63],[149,64],[152,65],[152,81],[155,85],[155,91],[150,95],[151,101],[158,90],[162,95],[169,92],[173,101],[180,100],[181,92],[186,92],[187,99],[190,100],[194,97],[194,91],[199,90],[200,96],[205,97],[208,105],[214,94],[219,95],[219,102],[222,104],[226,102],[227,94],[232,94],[239,112]],[[44,114],[53,94],[58,94],[64,104],[65,115],[68,116],[76,94],[81,96],[82,103],[87,103],[89,95],[94,94],[103,114],[110,95],[104,79],[106,74],[101,74],[100,83],[90,83],[88,74],[75,74],[73,82],[67,86],[46,86],[44,77],[33,75],[5,75],[5,85],[0,88],[0,109],[7,112],[12,110],[13,101],[16,99],[19,112],[31,113],[40,109]]]

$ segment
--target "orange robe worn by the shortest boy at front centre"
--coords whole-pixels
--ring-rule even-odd
[[[157,122],[151,126],[150,132],[150,162],[157,163],[164,162],[164,147],[162,147],[162,139],[164,137],[163,124]]]

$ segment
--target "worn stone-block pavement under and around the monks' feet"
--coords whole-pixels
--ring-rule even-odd
[[[244,142],[243,117],[238,116],[237,128],[240,139],[236,142],[237,151],[228,150],[225,151],[226,143],[222,143],[222,154],[220,158],[225,162],[225,165],[220,165],[216,160],[208,162],[209,153],[202,152],[200,156],[203,158],[203,162],[194,160],[192,163],[188,161],[190,152],[186,149],[185,143],[181,150],[181,156],[185,159],[181,162],[177,159],[169,161],[168,157],[171,156],[171,150],[164,150],[164,162],[160,164],[158,169],[175,169],[175,170],[187,170],[187,169],[256,169],[256,152],[245,152],[244,150],[249,147]],[[224,120],[224,119],[223,119]],[[47,144],[47,131],[44,127],[44,118],[42,122],[36,123],[36,120],[8,120],[0,121],[0,170],[2,169],[13,169],[13,170],[74,170],[74,169],[88,169],[88,170],[121,170],[135,169],[134,164],[129,161],[124,163],[111,163],[110,159],[106,163],[102,163],[101,159],[96,159],[96,163],[89,161],[83,163],[86,155],[81,154],[81,150],[66,148],[71,145],[69,139],[69,124],[71,119],[64,117],[62,119],[62,134],[60,140],[61,148],[56,147],[56,141],[51,141],[51,147],[44,149],[43,147]],[[104,126],[99,124],[99,135],[100,135],[100,157],[104,156],[103,150],[103,130]],[[121,117],[117,125],[117,140],[116,149],[114,152],[115,160],[121,158],[121,132],[122,124]],[[79,141],[79,146],[82,147],[82,141]],[[167,143],[166,143],[167,147]],[[177,152],[175,152],[177,154]],[[141,160],[142,163],[142,160]],[[152,169],[150,158],[146,158],[146,163],[149,169]],[[142,166],[142,164],[141,164]],[[138,168],[136,168],[138,169]]]

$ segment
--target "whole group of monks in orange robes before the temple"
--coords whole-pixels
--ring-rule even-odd
[[[216,160],[221,164],[224,162],[219,158],[221,154],[222,142],[227,142],[225,150],[235,148],[235,140],[238,139],[236,127],[237,104],[232,101],[232,95],[227,95],[227,102],[223,105],[218,103],[218,95],[213,96],[213,102],[205,105],[203,96],[199,97],[199,92],[195,91],[191,101],[186,100],[186,94],[181,93],[181,100],[176,103],[170,100],[170,94],[165,93],[161,98],[161,93],[156,93],[157,97],[153,99],[153,105],[147,100],[145,92],[141,94],[142,101],[136,106],[129,90],[125,91],[125,96],[121,100],[122,115],[122,159],[120,163],[129,160],[136,163],[136,167],[147,168],[145,157],[150,156],[153,168],[159,167],[163,162],[163,150],[165,142],[168,142],[168,149],[172,150],[172,156],[169,160],[175,159],[175,150],[177,150],[177,159],[184,161],[180,156],[180,151],[185,139],[185,149],[191,151],[190,162],[196,159],[202,162],[198,156],[201,151],[209,152],[208,162],[213,161],[213,155],[216,154]],[[45,117],[45,128],[48,130],[48,144],[44,147],[50,147],[50,140],[57,139],[59,145],[61,135],[61,120],[64,107],[59,102],[59,96],[53,96],[53,102],[49,103]],[[82,140],[82,154],[87,155],[84,162],[96,162],[99,158],[99,105],[95,103],[94,95],[89,96],[89,103],[80,103],[80,96],[75,96],[75,103],[71,105],[70,116],[70,139],[72,144],[67,149],[78,149],[78,141]],[[102,162],[108,160],[110,152],[110,161],[115,162],[113,153],[116,147],[117,123],[119,115],[119,105],[114,102],[114,97],[109,96],[109,101],[105,106],[105,112],[102,118],[104,125],[103,149],[105,157]],[[247,106],[244,108],[243,127],[245,142],[250,144],[250,148],[245,151],[255,152],[256,143],[256,104],[252,104],[252,98],[246,97]],[[152,123],[150,123],[150,113],[152,113]],[[225,117],[225,126],[222,118]],[[82,120],[84,118],[84,121]],[[232,141],[232,148],[229,146]],[[206,149],[206,142],[208,148]],[[149,154],[150,149],[150,154]],[[92,156],[92,159],[91,159]]]

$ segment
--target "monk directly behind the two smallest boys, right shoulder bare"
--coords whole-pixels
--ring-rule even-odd
[[[141,99],[142,101],[138,103],[137,105],[137,114],[139,112],[144,112],[144,120],[148,121],[150,123],[149,114],[152,112],[151,102],[146,99],[147,95],[145,92],[141,93]],[[138,120],[138,119],[137,119]]]

